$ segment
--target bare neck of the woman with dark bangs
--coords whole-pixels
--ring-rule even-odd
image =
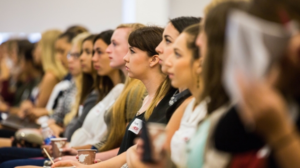
[[[148,97],[154,97],[157,88],[164,80],[164,78],[165,76],[162,75],[161,73],[156,73],[156,74],[148,74],[148,77],[140,80],[145,85],[145,88],[148,92]]]

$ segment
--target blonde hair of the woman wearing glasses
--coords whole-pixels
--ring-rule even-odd
[[[78,46],[78,49],[81,52],[82,41],[89,35],[90,35],[90,33],[88,33],[88,32],[83,32],[83,33],[78,34],[76,37],[74,37],[72,39],[72,42],[71,42],[72,46],[74,46],[74,45]],[[80,73],[80,75],[78,75],[75,78],[75,85],[76,85],[76,89],[77,89],[75,101],[74,101],[74,104],[72,105],[71,111],[68,114],[66,114],[63,119],[64,126],[68,125],[70,123],[70,121],[77,115],[79,104],[80,104],[81,92],[82,92],[82,73]]]

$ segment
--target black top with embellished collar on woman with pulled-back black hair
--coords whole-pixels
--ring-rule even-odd
[[[171,100],[169,101],[168,105],[169,107],[166,109],[166,122],[168,123],[170,118],[172,117],[175,110],[183,103],[185,99],[187,99],[189,96],[191,96],[188,89],[185,89],[184,91],[173,95],[171,97]]]

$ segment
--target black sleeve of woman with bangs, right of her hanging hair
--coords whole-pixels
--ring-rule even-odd
[[[151,116],[149,117],[147,122],[153,122],[153,123],[162,123],[167,124],[168,120],[166,119],[166,116],[172,115],[174,111],[168,111],[167,114],[167,108],[169,108],[169,101],[171,97],[174,95],[177,89],[171,88],[169,92],[160,100],[158,105],[154,108]]]

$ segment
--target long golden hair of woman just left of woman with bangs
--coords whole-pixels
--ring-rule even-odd
[[[120,24],[116,27],[118,28],[129,28],[128,36],[129,34],[134,31],[135,29],[139,27],[143,27],[145,25],[140,23],[127,23],[127,24]],[[125,56],[125,55],[124,55]],[[108,138],[106,143],[100,148],[99,151],[108,151],[114,148],[120,147],[120,144],[122,142],[123,136],[125,134],[125,128],[126,128],[126,120],[125,120],[125,108],[126,108],[126,98],[130,91],[130,89],[133,86],[136,86],[136,84],[140,83],[139,80],[131,79],[128,76],[126,76],[124,89],[122,90],[122,93],[120,96],[116,99],[116,101],[113,104],[112,107],[112,117],[110,120],[111,125],[111,131],[109,132]],[[142,89],[143,87],[140,87],[139,91],[140,94],[138,94],[140,100],[142,96]],[[132,106],[137,106],[137,102],[130,102],[134,103]],[[129,105],[127,105],[129,106]],[[130,104],[131,106],[131,104]]]

